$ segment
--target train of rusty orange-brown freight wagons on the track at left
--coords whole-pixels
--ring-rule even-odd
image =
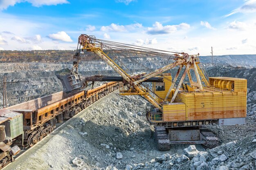
[[[76,94],[61,91],[1,109],[0,169],[13,161],[18,146],[33,146],[52,132],[56,122],[70,119],[121,86],[121,82],[108,82]]]

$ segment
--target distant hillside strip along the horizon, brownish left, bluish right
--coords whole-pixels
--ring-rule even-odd
[[[45,50],[45,51],[0,51],[0,62],[72,62],[75,50]],[[106,51],[108,53],[108,51]],[[140,58],[134,53],[125,54],[127,57]],[[123,57],[121,57],[123,58]],[[148,58],[149,61],[152,60]],[[166,59],[155,57],[157,62],[165,63]],[[84,53],[82,61],[101,60],[94,53]],[[127,60],[127,59],[125,59]],[[143,59],[144,60],[144,59]],[[145,61],[145,60],[144,60]],[[204,66],[212,66],[211,56],[200,56]],[[168,61],[170,63],[170,61]],[[213,56],[213,65],[256,67],[256,54],[254,55],[218,55]]]

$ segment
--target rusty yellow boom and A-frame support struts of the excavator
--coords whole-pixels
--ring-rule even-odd
[[[97,43],[96,43],[97,41]],[[171,68],[174,68],[175,66],[180,66],[177,75],[175,76],[175,82],[177,80],[177,77],[180,73],[180,71],[182,70],[182,66],[186,66],[184,73],[179,81],[179,84],[177,85],[177,88],[175,89],[174,95],[171,99],[171,103],[174,102],[174,99],[180,89],[180,86],[182,85],[182,82],[185,78],[185,76],[187,75],[189,68],[190,67],[194,67],[194,69],[197,69],[197,67],[195,66],[194,62],[194,56],[188,55],[187,53],[179,53],[182,54],[182,56],[178,55],[178,54],[174,54],[173,56],[175,56],[175,58],[173,58],[173,60],[175,60],[173,63],[168,64],[162,68],[159,68],[155,71],[152,71],[146,75],[143,75],[143,77],[135,78],[135,77],[131,77],[130,75],[128,75],[128,73],[126,73],[117,63],[114,62],[114,60],[112,60],[108,54],[104,53],[102,50],[102,44],[101,42],[99,42],[94,36],[88,36],[85,34],[81,34],[79,36],[79,44],[82,46],[82,51],[86,50],[86,51],[91,51],[95,54],[97,54],[103,61],[105,61],[110,67],[112,67],[119,75],[121,75],[121,77],[123,77],[124,81],[128,84],[130,84],[136,91],[138,95],[143,96],[146,100],[148,100],[148,102],[150,102],[151,104],[153,104],[156,108],[159,108],[159,111],[162,112],[162,104],[160,104],[159,102],[157,102],[157,100],[151,96],[149,93],[146,92],[146,89],[142,88],[140,86],[141,82],[149,82],[150,79],[152,79],[152,77],[155,77],[156,75],[161,75],[161,73],[170,70]],[[202,88],[201,82],[200,82],[200,78],[198,77],[198,72],[197,73],[197,80],[198,80],[198,85],[200,87],[200,89]],[[190,78],[190,77],[189,77]],[[171,93],[171,90],[173,88],[173,85],[171,86],[171,88],[168,91],[168,94]],[[168,95],[166,95],[166,98],[168,97]]]

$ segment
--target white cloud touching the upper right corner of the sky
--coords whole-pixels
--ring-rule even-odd
[[[256,0],[244,0],[245,3],[233,10],[231,13],[225,15],[224,17],[228,17],[230,15],[233,15],[235,13],[253,13],[253,12],[256,12]]]

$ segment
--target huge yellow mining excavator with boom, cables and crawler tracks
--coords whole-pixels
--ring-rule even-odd
[[[207,148],[213,148],[218,146],[218,137],[203,127],[213,123],[245,124],[247,80],[208,77],[199,61],[199,54],[189,55],[99,40],[85,34],[80,35],[78,41],[78,49],[74,55],[76,60],[80,60],[85,51],[97,54],[121,75],[121,81],[126,85],[120,89],[121,95],[140,95],[150,102],[151,105],[146,107],[146,118],[155,126],[158,150],[169,150],[171,144],[203,144]],[[139,60],[146,56],[163,57],[167,62],[173,62],[152,70],[147,66],[150,63],[141,64],[132,55],[128,57],[128,54],[139,56]],[[147,73],[127,73],[125,70],[128,67],[121,59],[138,64]],[[77,63],[78,61],[74,62],[74,68]],[[173,79],[171,73],[168,73],[171,69],[177,69]],[[69,76],[76,82],[76,86],[70,86],[69,91],[86,84],[80,77],[77,81],[76,74],[73,72]],[[152,89],[144,85],[144,82],[150,82],[150,79],[156,77],[162,79],[151,81]],[[185,82],[185,79],[189,81]],[[82,83],[79,85],[78,82]]]

